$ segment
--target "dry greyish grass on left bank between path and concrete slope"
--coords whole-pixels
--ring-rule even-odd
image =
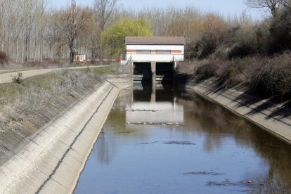
[[[21,84],[0,84],[0,128],[15,121],[23,112],[41,109],[53,96],[73,89],[93,89],[101,75],[115,74],[114,66],[80,70],[60,70],[22,79]]]

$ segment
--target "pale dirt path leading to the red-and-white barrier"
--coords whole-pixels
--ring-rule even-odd
[[[106,67],[103,66],[89,66],[90,68],[97,68],[97,67]],[[49,72],[58,71],[58,70],[78,70],[78,69],[84,69],[85,67],[66,67],[66,68],[53,68],[53,69],[43,69],[43,70],[19,70],[14,72],[4,72],[0,73],[0,84],[4,83],[11,83],[12,77],[17,75],[18,72],[22,72],[22,77],[25,79],[27,77],[33,77],[37,75],[44,75]]]

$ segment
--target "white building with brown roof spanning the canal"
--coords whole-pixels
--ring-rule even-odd
[[[126,37],[127,60],[172,63],[184,60],[184,37]]]

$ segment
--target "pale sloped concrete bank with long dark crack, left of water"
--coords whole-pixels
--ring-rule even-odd
[[[131,79],[108,79],[0,167],[0,193],[72,193],[120,89]]]

